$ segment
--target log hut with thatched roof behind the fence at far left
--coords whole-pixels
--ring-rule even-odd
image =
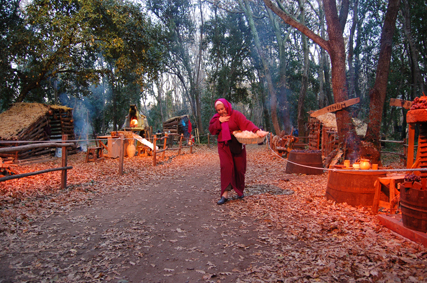
[[[0,125],[0,147],[17,146],[18,141],[60,140],[64,134],[69,140],[75,139],[72,108],[65,106],[15,103],[0,113]],[[68,154],[76,153],[76,147],[76,144],[67,147]],[[26,159],[51,154],[53,150],[50,147],[36,148],[0,153],[0,157]]]

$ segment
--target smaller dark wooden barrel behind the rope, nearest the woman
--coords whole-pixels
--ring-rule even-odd
[[[298,151],[291,150],[286,164],[286,173],[301,173],[307,175],[323,174],[322,153],[320,151]],[[302,166],[298,165],[301,164]],[[316,167],[308,168],[305,166]]]

